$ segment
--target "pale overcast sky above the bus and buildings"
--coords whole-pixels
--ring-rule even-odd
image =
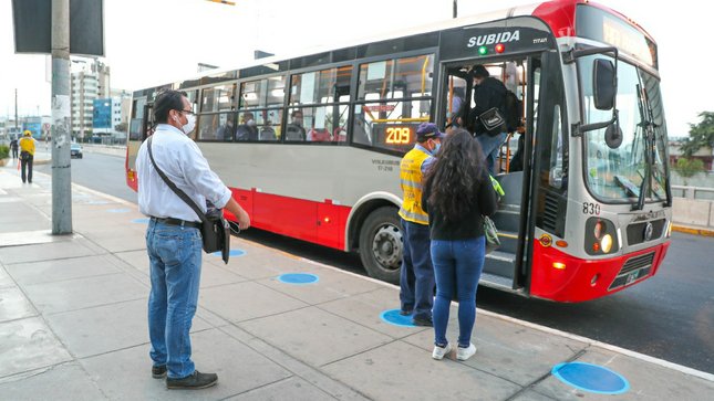
[[[375,34],[452,19],[453,0],[104,0],[105,62],[112,88],[139,89],[196,75],[197,64],[231,67],[253,50],[277,55],[310,53]],[[459,17],[534,1],[458,0]],[[600,0],[654,38],[670,137],[685,137],[699,113],[714,110],[708,96],[714,55],[703,44],[711,18],[697,0],[676,7],[641,0]],[[700,54],[697,54],[700,52]],[[687,54],[692,56],[687,57]],[[0,1],[0,118],[50,114],[46,56],[15,54],[12,1]],[[690,82],[682,82],[684,77]],[[677,81],[679,80],[679,81]]]

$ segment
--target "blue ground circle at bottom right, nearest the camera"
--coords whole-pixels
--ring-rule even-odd
[[[598,365],[559,363],[551,373],[566,384],[598,394],[621,394],[630,390],[630,382],[622,374]]]

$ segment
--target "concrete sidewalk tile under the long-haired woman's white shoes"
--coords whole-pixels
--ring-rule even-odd
[[[456,347],[458,314],[452,307],[446,338]],[[434,330],[405,338],[424,350],[434,348]],[[572,358],[588,345],[538,330],[525,329],[515,323],[477,315],[472,342],[478,347],[464,363],[520,386],[528,386],[557,363]]]

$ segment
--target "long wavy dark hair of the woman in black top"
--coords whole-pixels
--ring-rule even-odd
[[[454,129],[424,179],[424,187],[431,188],[430,209],[441,211],[447,221],[461,219],[470,209],[485,168],[478,140],[466,129]]]

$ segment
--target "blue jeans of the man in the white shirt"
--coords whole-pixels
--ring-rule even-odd
[[[152,278],[149,356],[154,366],[166,365],[169,378],[185,378],[195,370],[188,331],[198,305],[200,232],[152,220],[146,230],[146,249]]]

